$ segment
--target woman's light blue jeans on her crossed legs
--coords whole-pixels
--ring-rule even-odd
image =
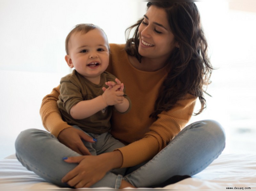
[[[16,142],[16,156],[23,166],[46,181],[68,187],[61,178],[77,164],[69,164],[63,157],[80,156],[52,134],[28,129],[20,133]],[[122,176],[108,172],[92,187],[119,188],[121,180],[135,187],[150,187],[175,175],[193,176],[204,170],[225,148],[225,133],[213,120],[195,122],[185,127],[162,151],[146,164],[127,170]]]

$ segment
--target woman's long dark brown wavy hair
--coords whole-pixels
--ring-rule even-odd
[[[167,60],[170,72],[162,84],[156,99],[155,108],[150,117],[158,118],[162,111],[168,111],[188,93],[198,97],[201,109],[206,108],[204,93],[210,84],[212,65],[207,55],[207,41],[200,23],[199,11],[193,2],[148,2],[147,7],[163,8],[171,31],[179,48],[174,48]],[[138,29],[143,19],[126,29],[127,42],[125,50],[130,56],[135,56],[141,62],[138,52]],[[130,34],[133,32],[133,36]],[[207,93],[206,93],[207,94]]]

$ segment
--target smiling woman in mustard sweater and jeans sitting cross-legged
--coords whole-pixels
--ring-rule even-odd
[[[62,121],[57,87],[40,110],[54,136],[30,129],[17,138],[16,155],[29,170],[60,186],[150,187],[168,184],[175,175],[192,176],[220,155],[225,147],[220,124],[204,120],[185,127],[197,98],[198,114],[205,108],[203,93],[212,73],[197,7],[193,2],[147,6],[143,19],[128,29],[128,34],[135,30],[126,45],[110,46],[108,72],[125,84],[132,100],[129,113],[114,113],[111,134],[127,146],[88,155],[81,139],[92,138]],[[125,175],[110,172],[122,167],[131,168]]]

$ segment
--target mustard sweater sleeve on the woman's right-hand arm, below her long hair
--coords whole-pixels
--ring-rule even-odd
[[[196,98],[187,95],[169,111],[163,111],[150,126],[144,138],[118,149],[123,155],[123,167],[150,160],[185,127],[193,114]]]

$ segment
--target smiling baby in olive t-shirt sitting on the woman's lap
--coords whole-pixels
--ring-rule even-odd
[[[90,135],[95,142],[84,142],[92,155],[111,152],[124,144],[111,136],[113,107],[128,112],[131,101],[124,84],[106,72],[109,44],[104,31],[92,24],[79,24],[66,38],[65,60],[71,74],[60,81],[58,107],[62,118]],[[72,127],[70,127],[72,128]]]

